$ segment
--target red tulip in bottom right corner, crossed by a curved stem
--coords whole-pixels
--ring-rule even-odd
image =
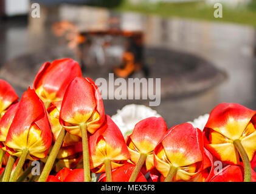
[[[256,173],[252,170],[252,182],[256,181]],[[228,165],[216,173],[210,182],[243,182],[243,167]]]

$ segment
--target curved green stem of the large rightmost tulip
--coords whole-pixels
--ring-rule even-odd
[[[239,139],[235,139],[233,144],[235,148],[238,150],[244,164],[244,182],[251,182],[252,169],[246,150],[244,150],[244,147]]]

